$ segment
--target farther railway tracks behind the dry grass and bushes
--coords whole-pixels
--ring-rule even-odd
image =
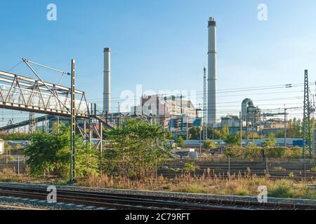
[[[176,176],[180,176],[184,174],[183,167],[185,162],[175,162],[166,164],[163,167],[157,170],[158,176],[164,176],[165,178],[173,179]],[[241,176],[266,176],[269,174],[269,177],[272,179],[294,179],[294,180],[315,180],[316,171],[312,169],[316,167],[315,162],[308,162],[307,164],[303,164],[301,162],[241,162],[234,161],[230,162],[197,162],[196,165],[199,169],[196,172],[191,172],[192,176],[209,176],[213,178],[216,176],[217,178],[227,178],[228,173],[230,175],[241,175]],[[20,174],[25,172],[26,165],[20,164]],[[0,164],[0,172],[4,168],[13,169],[17,172],[17,165],[9,164],[2,165]],[[118,174],[118,169],[114,169],[112,174]]]

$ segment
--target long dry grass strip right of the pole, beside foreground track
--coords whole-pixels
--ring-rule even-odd
[[[308,189],[307,185],[316,181],[292,181],[287,179],[272,180],[268,177],[241,174],[230,176],[229,179],[209,176],[178,176],[175,179],[164,179],[160,176],[156,179],[132,181],[124,177],[103,175],[91,176],[80,181],[79,186],[96,188],[118,188],[133,190],[164,190],[182,193],[205,193],[215,195],[258,195],[258,187],[266,186],[271,197],[305,197],[315,199],[315,190]]]

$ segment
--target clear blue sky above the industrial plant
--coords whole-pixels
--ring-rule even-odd
[[[57,6],[57,21],[46,20],[48,3]],[[259,3],[268,6],[268,21],[257,19]],[[69,71],[74,58],[77,89],[102,106],[103,48],[110,47],[113,110],[119,94],[135,92],[138,84],[143,90],[195,90],[199,104],[210,16],[218,22],[218,90],[225,90],[303,83],[304,69],[313,82],[315,11],[315,0],[2,1],[0,70],[26,57]],[[22,65],[12,72],[32,76]],[[41,76],[60,79],[55,73]],[[69,82],[62,79],[63,85]],[[239,103],[230,102],[241,104],[246,97],[263,109],[301,106],[303,99],[291,98],[303,96],[300,90],[218,94],[220,116],[239,113]]]

